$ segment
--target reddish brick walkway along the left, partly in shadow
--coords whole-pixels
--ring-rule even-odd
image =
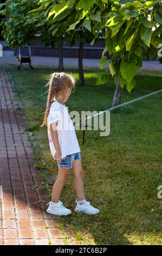
[[[46,199],[40,172],[24,131],[11,84],[0,71],[0,245],[61,245],[53,216],[37,200]],[[45,228],[46,227],[46,228]]]

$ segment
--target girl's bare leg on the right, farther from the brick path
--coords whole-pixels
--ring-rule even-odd
[[[81,160],[73,161],[73,173],[74,173],[74,189],[78,200],[85,199],[85,190],[84,190],[84,171],[82,168]]]

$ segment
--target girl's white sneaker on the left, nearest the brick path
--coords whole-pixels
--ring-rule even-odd
[[[72,214],[72,211],[64,207],[62,205],[62,202],[60,202],[60,200],[55,205],[51,204],[51,202],[49,202],[47,205],[48,205],[48,209],[47,209],[48,214],[54,214],[59,216]]]

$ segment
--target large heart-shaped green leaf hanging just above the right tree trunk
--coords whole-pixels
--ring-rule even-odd
[[[137,74],[137,70],[137,66],[133,62],[122,62],[120,65],[121,75],[127,81],[127,83],[131,82],[133,77]]]

